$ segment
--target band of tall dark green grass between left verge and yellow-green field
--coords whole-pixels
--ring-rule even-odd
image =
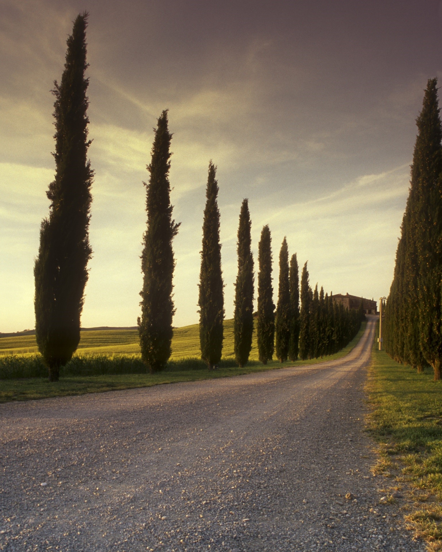
[[[258,364],[250,361],[249,365]],[[234,359],[223,359],[219,363],[220,368],[236,368]],[[207,370],[205,364],[199,358],[181,358],[170,360],[165,369],[166,372]],[[73,357],[60,370],[61,376],[89,376],[106,374],[145,374],[146,365],[140,357],[133,355],[108,357],[105,354],[90,357]],[[48,368],[43,364],[40,355],[21,357],[9,355],[0,357],[0,379],[19,378],[45,378],[48,376]]]

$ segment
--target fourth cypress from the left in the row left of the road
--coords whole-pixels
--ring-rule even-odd
[[[235,311],[233,316],[235,360],[239,367],[247,364],[252,348],[255,277],[251,251],[251,225],[249,202],[244,199],[239,215],[238,244],[236,248],[238,274],[235,283]]]

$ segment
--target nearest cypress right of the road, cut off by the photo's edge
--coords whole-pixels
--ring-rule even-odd
[[[422,112],[417,119],[419,136],[414,163],[419,164],[417,242],[419,277],[419,337],[425,360],[441,378],[442,360],[442,129],[437,79],[429,79]]]

